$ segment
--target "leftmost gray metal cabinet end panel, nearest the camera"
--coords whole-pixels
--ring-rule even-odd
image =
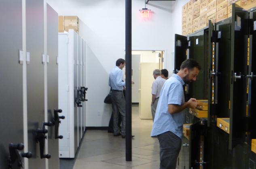
[[[4,23],[0,31],[0,168],[8,169],[9,143],[23,143],[21,0],[1,0],[0,22]]]

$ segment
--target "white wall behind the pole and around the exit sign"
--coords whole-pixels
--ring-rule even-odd
[[[132,0],[133,50],[165,51],[164,67],[173,70],[174,34],[182,33],[181,10],[188,0],[149,1],[148,19],[140,17],[144,0]],[[103,103],[109,92],[108,73],[125,50],[125,0],[48,0],[59,15],[80,18],[79,34],[86,46],[86,125],[108,126],[111,107]]]

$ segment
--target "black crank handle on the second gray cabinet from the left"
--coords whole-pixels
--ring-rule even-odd
[[[42,127],[36,130],[36,142],[39,142],[41,159],[43,158],[50,159],[51,155],[44,154],[44,144],[45,144],[45,139],[47,139],[47,136],[45,134],[48,133],[48,130],[45,129],[45,126],[52,126],[52,122],[43,122]]]

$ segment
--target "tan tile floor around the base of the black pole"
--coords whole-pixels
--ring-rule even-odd
[[[158,169],[159,142],[151,138],[152,120],[141,120],[132,107],[132,161],[125,161],[125,139],[106,130],[87,130],[73,169]]]

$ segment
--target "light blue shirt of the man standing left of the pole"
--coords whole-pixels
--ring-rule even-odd
[[[125,82],[123,82],[123,72],[118,66],[115,66],[110,74],[108,85],[112,87],[112,90],[122,91],[125,86]]]

